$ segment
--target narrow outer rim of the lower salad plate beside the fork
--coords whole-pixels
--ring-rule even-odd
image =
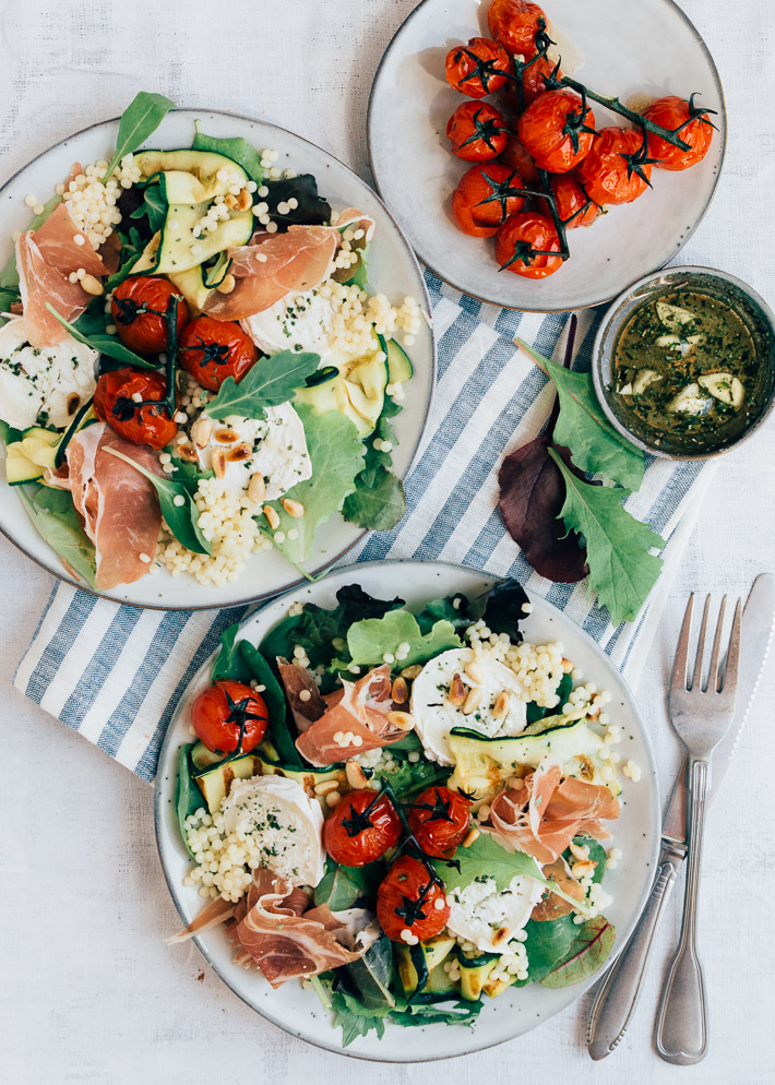
[[[361,568],[362,569],[379,569],[379,568],[385,569],[385,568],[398,567],[398,565],[407,565],[407,564],[410,564],[410,565],[429,565],[429,567],[432,567],[432,568],[436,568],[436,569],[438,569],[439,567],[442,567],[442,568],[444,568],[446,570],[451,570],[451,571],[455,571],[455,572],[464,572],[464,573],[466,573],[468,575],[470,575],[470,574],[478,575],[478,576],[481,576],[485,580],[492,581],[496,584],[497,583],[502,583],[503,581],[510,579],[508,576],[501,576],[501,575],[499,575],[497,573],[490,573],[486,569],[479,569],[478,567],[475,567],[475,565],[465,565],[465,564],[462,564],[461,562],[454,562],[454,561],[437,561],[434,559],[416,559],[416,558],[378,558],[378,559],[374,559],[372,561],[358,561],[358,562],[353,562],[353,563],[349,563],[349,564],[342,565],[338,569],[329,570],[329,572],[326,572],[323,576],[320,576],[315,581],[314,585],[310,585],[310,587],[312,587],[314,589],[314,587],[317,587],[318,584],[324,583],[325,581],[330,580],[331,577],[333,577],[335,575],[346,575],[346,574],[349,574],[349,573],[357,574],[358,571],[359,571],[359,569],[361,569]],[[275,603],[282,603],[283,599],[285,599],[290,594],[291,594],[291,589],[288,589],[287,592],[284,592],[282,595],[277,595],[277,596],[273,597],[272,599],[267,599],[261,607],[259,607],[252,613],[248,615],[246,618],[243,618],[243,619],[240,620],[240,622],[239,622],[240,631],[249,622],[254,621],[264,610],[267,609],[267,607],[270,607],[271,605],[273,605]],[[619,668],[616,666],[616,664],[611,660],[610,656],[608,656],[607,653],[604,652],[604,649],[600,647],[600,645],[597,643],[597,641],[595,641],[595,639],[589,633],[587,633],[587,631],[585,629],[583,629],[581,625],[579,625],[575,621],[573,621],[572,618],[570,618],[568,615],[565,615],[564,611],[560,610],[558,607],[556,607],[552,603],[549,603],[549,600],[545,599],[542,596],[536,595],[533,598],[532,601],[533,603],[538,601],[539,605],[546,606],[549,609],[549,611],[553,611],[553,613],[557,615],[557,616],[559,616],[562,621],[564,621],[565,623],[571,624],[573,627],[573,629],[574,629],[574,632],[577,633],[581,636],[582,641],[586,642],[587,646],[593,649],[593,652],[594,652],[595,656],[597,657],[597,659],[604,666],[609,667],[618,676],[618,681],[621,683],[621,689],[622,689],[623,694],[627,698],[628,706],[629,706],[630,711],[632,712],[633,717],[634,717],[634,719],[635,719],[635,722],[637,724],[639,732],[640,732],[640,736],[641,736],[641,738],[643,740],[643,744],[645,747],[646,754],[647,754],[647,758],[648,758],[648,770],[647,770],[647,772],[644,772],[643,778],[644,778],[644,780],[647,779],[649,782],[652,790],[654,792],[654,810],[653,810],[652,824],[651,824],[652,849],[651,849],[651,856],[649,856],[649,863],[647,863],[647,867],[651,867],[651,869],[653,870],[654,877],[656,877],[656,870],[657,870],[658,857],[659,857],[659,848],[660,848],[660,839],[661,839],[661,801],[660,801],[661,800],[661,788],[660,788],[660,777],[659,777],[659,772],[658,772],[657,764],[656,764],[656,756],[655,756],[655,751],[654,751],[654,744],[652,742],[651,732],[649,732],[649,729],[645,725],[645,720],[644,720],[643,715],[641,713],[641,710],[640,710],[640,706],[639,706],[639,702],[637,702],[637,700],[635,698],[635,694],[634,694],[633,690],[630,688],[630,683],[627,681],[627,679],[624,678],[624,676],[622,675],[622,672],[619,670]],[[156,843],[156,851],[157,851],[157,855],[158,855],[159,866],[162,867],[162,871],[164,873],[164,879],[165,879],[165,881],[167,883],[167,887],[169,890],[170,897],[172,898],[172,903],[175,905],[175,908],[176,908],[178,915],[180,916],[180,919],[183,921],[183,923],[188,923],[190,920],[187,918],[187,916],[186,916],[186,914],[183,911],[183,907],[181,905],[180,896],[179,896],[179,893],[178,893],[178,886],[177,886],[177,884],[175,884],[172,882],[170,873],[167,870],[167,866],[166,866],[166,863],[164,861],[163,849],[162,849],[162,836],[163,836],[163,824],[164,824],[163,807],[164,807],[164,803],[165,803],[165,800],[166,800],[166,796],[165,796],[165,783],[166,783],[166,778],[163,775],[162,765],[163,765],[163,762],[165,762],[167,760],[168,748],[172,743],[172,732],[176,729],[175,725],[176,725],[177,719],[178,719],[178,710],[179,710],[179,706],[184,701],[188,691],[190,689],[192,689],[196,684],[196,682],[200,680],[200,676],[203,673],[203,671],[205,671],[210,666],[212,666],[213,659],[215,658],[215,656],[216,656],[216,654],[217,654],[218,651],[219,649],[216,648],[207,657],[207,659],[204,660],[204,663],[198,669],[196,673],[192,677],[191,681],[187,684],[186,690],[183,691],[183,693],[180,696],[180,700],[178,702],[178,706],[176,707],[175,714],[172,715],[172,717],[171,717],[171,719],[170,719],[170,722],[169,722],[169,724],[167,726],[167,730],[165,731],[165,736],[164,736],[164,739],[162,741],[162,746],[159,747],[157,771],[156,771],[156,776],[154,778],[154,785],[153,785],[154,786],[154,837],[155,837],[155,843]],[[600,979],[603,979],[603,977],[608,973],[608,970],[611,968],[611,966],[618,959],[620,953],[628,945],[628,943],[629,943],[629,941],[630,941],[630,939],[632,937],[632,933],[635,930],[635,927],[636,927],[639,920],[641,919],[641,916],[643,914],[643,909],[644,909],[644,907],[645,907],[645,905],[647,903],[648,896],[649,896],[649,894],[652,892],[653,884],[654,884],[654,878],[646,879],[646,882],[644,884],[643,891],[642,891],[641,896],[640,896],[639,902],[637,902],[637,906],[633,910],[633,914],[631,916],[630,921],[627,925],[623,925],[623,927],[621,928],[621,931],[622,931],[621,937],[617,937],[617,943],[615,944],[613,951],[611,952],[610,956],[605,962],[605,966],[600,970],[594,973],[592,976],[589,976],[583,982],[577,983],[577,985],[573,985],[573,990],[575,992],[574,998],[572,998],[571,1001],[565,1004],[565,1006],[559,1008],[557,1011],[555,1011],[553,1013],[549,1014],[548,1017],[546,1017],[542,1021],[538,1022],[538,1025],[541,1025],[546,1021],[551,1020],[551,1017],[556,1016],[557,1013],[561,1013],[562,1010],[568,1009],[569,1006],[574,1005],[575,1003],[577,1003],[579,1000],[582,998],[582,995],[584,995],[589,990],[589,988],[592,988],[595,983],[597,983]],[[619,935],[619,929],[617,930],[617,935]],[[213,971],[218,977],[218,979],[223,983],[225,983],[226,987],[233,992],[233,994],[236,994],[237,998],[241,1002],[245,1003],[245,1005],[247,1005],[250,1010],[252,1010],[253,1013],[258,1013],[259,1016],[263,1017],[264,1021],[270,1022],[270,1024],[274,1025],[275,1027],[277,1027],[279,1029],[282,1029],[284,1033],[287,1033],[290,1036],[295,1036],[297,1039],[302,1040],[305,1044],[310,1044],[312,1047],[319,1048],[319,1049],[324,1050],[324,1051],[330,1051],[333,1054],[338,1054],[338,1056],[343,1056],[345,1058],[350,1058],[350,1059],[359,1059],[360,1061],[363,1061],[363,1062],[378,1062],[378,1063],[397,1064],[397,1065],[424,1064],[424,1063],[432,1063],[432,1062],[444,1062],[444,1061],[448,1061],[448,1060],[451,1060],[451,1059],[466,1058],[469,1054],[475,1054],[475,1053],[480,1052],[480,1051],[488,1051],[488,1050],[490,1050],[492,1048],[500,1047],[502,1044],[511,1042],[511,1041],[513,1041],[515,1039],[518,1039],[521,1035],[525,1035],[525,1034],[515,1034],[515,1035],[512,1035],[512,1036],[504,1036],[502,1039],[494,1040],[493,1042],[490,1042],[490,1044],[484,1044],[480,1047],[474,1047],[474,1048],[472,1048],[468,1051],[452,1052],[450,1054],[432,1054],[432,1056],[428,1056],[428,1057],[424,1057],[424,1058],[418,1058],[418,1059],[414,1059],[414,1058],[413,1059],[402,1059],[402,1058],[388,1058],[388,1057],[380,1058],[379,1056],[373,1056],[373,1054],[366,1053],[366,1052],[360,1052],[360,1051],[354,1051],[350,1048],[343,1048],[341,1045],[337,1046],[333,1041],[331,1044],[325,1044],[322,1040],[310,1039],[309,1036],[305,1035],[302,1032],[300,1032],[299,1029],[295,1028],[293,1025],[286,1024],[285,1022],[279,1021],[274,1015],[267,1013],[264,1010],[258,1009],[258,1006],[255,1006],[251,1002],[249,1002],[248,999],[231,983],[231,981],[229,980],[228,976],[226,976],[224,974],[224,971],[222,971],[220,967],[215,963],[215,961],[211,956],[210,952],[207,951],[206,946],[202,943],[201,937],[199,934],[195,934],[191,939],[191,941],[196,945],[196,949],[202,954],[202,956],[207,962],[207,964],[213,969]],[[235,965],[233,967],[236,968],[237,966]],[[230,969],[229,969],[229,973],[230,973]],[[537,1027],[537,1026],[536,1025],[530,1026],[530,1028],[527,1029],[526,1032],[532,1032],[533,1028],[535,1028],[535,1027]],[[335,1032],[335,1028],[334,1028],[333,1025],[332,1025],[332,1035],[333,1036],[337,1036],[338,1035]]]

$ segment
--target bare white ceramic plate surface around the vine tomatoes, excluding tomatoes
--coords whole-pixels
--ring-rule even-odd
[[[711,150],[693,169],[655,169],[653,192],[612,207],[589,228],[568,235],[571,259],[549,278],[499,272],[492,241],[454,225],[450,196],[469,167],[449,151],[446,121],[472,100],[444,80],[449,49],[489,37],[489,0],[424,0],[385,52],[371,91],[369,155],[377,187],[419,258],[458,290],[510,309],[548,312],[600,305],[676,255],[713,196],[724,158],[724,95],[707,48],[671,0],[546,0],[558,34],[583,53],[574,73],[604,95],[689,97],[718,116]],[[598,128],[627,124],[591,102]]]

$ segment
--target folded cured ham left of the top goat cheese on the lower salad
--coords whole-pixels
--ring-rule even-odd
[[[390,746],[406,734],[388,719],[393,707],[388,664],[370,670],[357,682],[343,680],[342,685],[342,690],[325,699],[323,715],[296,740],[299,753],[319,767]],[[343,736],[348,732],[353,739],[343,742]]]

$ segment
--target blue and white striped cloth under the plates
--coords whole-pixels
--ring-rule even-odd
[[[637,659],[647,653],[711,468],[647,457],[644,482],[627,508],[668,540],[665,570],[637,620],[615,628],[607,611],[591,606],[584,584],[552,584],[533,572],[496,508],[496,465],[540,431],[553,398],[547,378],[513,338],[561,358],[567,315],[499,309],[460,295],[429,272],[426,282],[439,374],[424,443],[406,479],[407,514],[392,532],[367,536],[347,560],[441,559],[515,576],[565,611],[636,680]],[[589,368],[598,320],[594,311],[581,314],[574,368]],[[143,611],[59,583],[14,684],[151,782],[182,692],[222,631],[247,613],[245,607]],[[635,643],[641,652],[633,656]]]

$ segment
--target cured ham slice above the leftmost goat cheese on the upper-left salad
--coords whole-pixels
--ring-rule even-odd
[[[83,238],[76,242],[75,238]],[[49,302],[64,320],[80,317],[92,295],[70,274],[83,267],[94,276],[108,269],[83,230],[73,223],[67,205],[60,203],[36,230],[26,230],[16,241],[19,290],[24,322],[33,346],[52,346],[68,332],[46,308]]]

